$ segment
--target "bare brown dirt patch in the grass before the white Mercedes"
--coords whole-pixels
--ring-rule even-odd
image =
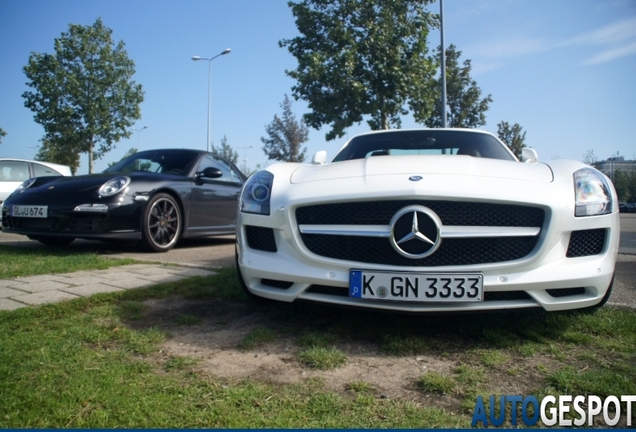
[[[330,314],[351,313],[348,309],[303,304],[269,303],[256,305],[251,302],[230,300],[189,301],[181,298],[150,300],[145,318],[132,321],[136,328],[157,327],[171,337],[165,341],[156,357],[158,362],[173,357],[199,359],[197,370],[221,378],[250,378],[252,380],[289,384],[318,378],[324,387],[340,394],[353,394],[348,384],[364,382],[379,398],[410,400],[423,405],[458,409],[461,395],[429,394],[418,388],[418,380],[429,372],[453,374],[460,364],[470,361],[465,350],[445,352],[447,347],[431,347],[430,352],[409,356],[387,355],[381,350],[379,338],[357,336],[341,331],[337,348],[346,354],[344,366],[333,370],[315,370],[303,365],[297,353],[303,349],[297,343],[303,332],[320,332],[329,328]],[[313,308],[313,309],[312,309]],[[322,311],[317,308],[323,308]],[[318,312],[316,312],[318,311]],[[175,320],[183,315],[196,316],[196,325],[177,325]],[[358,317],[359,318],[359,317]],[[381,327],[390,334],[392,320],[405,318],[369,313],[363,319],[383,320]],[[266,327],[276,334],[273,342],[252,349],[241,349],[245,337],[258,327]],[[425,329],[423,329],[423,333]],[[378,335],[379,337],[386,337]],[[461,345],[461,344],[460,344]],[[451,347],[453,345],[451,344]],[[512,366],[523,371],[518,375],[505,370],[489,369],[488,388],[499,394],[527,394],[542,381],[536,365],[524,360],[524,364]],[[547,365],[546,359],[540,360]],[[477,362],[479,364],[479,362]],[[483,365],[480,365],[483,367]]]

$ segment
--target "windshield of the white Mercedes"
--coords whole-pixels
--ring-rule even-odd
[[[393,130],[360,135],[336,155],[334,162],[391,155],[466,155],[516,160],[494,136],[461,130]]]

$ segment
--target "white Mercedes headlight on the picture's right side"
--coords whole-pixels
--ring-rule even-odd
[[[576,210],[574,215],[597,216],[612,212],[612,193],[605,176],[592,168],[574,173]]]

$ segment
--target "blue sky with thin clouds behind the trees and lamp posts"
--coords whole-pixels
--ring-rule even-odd
[[[440,5],[429,8],[439,13]],[[145,100],[131,137],[96,161],[96,172],[130,148],[205,149],[208,62],[191,57],[226,48],[210,64],[212,143],[225,136],[240,167],[273,163],[261,137],[292,96],[285,71],[297,66],[278,44],[299,35],[287,0],[0,0],[0,157],[33,159],[44,135],[22,97],[30,53],[54,53],[69,24],[97,18],[124,41]],[[588,150],[636,159],[636,0],[444,0],[444,36],[492,96],[482,129],[518,123],[541,160],[582,160]],[[431,32],[429,49],[439,44]],[[294,101],[292,111],[300,119],[307,104]],[[402,127],[422,125],[406,116]],[[369,127],[353,125],[332,141],[328,130],[310,129],[307,161],[319,150],[330,159]],[[83,154],[78,174],[87,172]]]

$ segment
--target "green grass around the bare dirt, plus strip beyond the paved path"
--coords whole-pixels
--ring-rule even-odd
[[[68,272],[64,266],[79,261],[66,261],[64,253],[56,258],[31,252],[25,258],[20,251],[4,255],[2,246],[0,252],[4,277]],[[32,266],[36,261],[45,264]],[[108,264],[121,262],[85,262],[81,269]],[[228,268],[213,276],[0,312],[0,427],[467,428],[477,396],[509,394],[509,382],[515,394],[538,398],[636,394],[636,313],[629,310],[412,316],[292,305],[280,312],[276,326],[260,325],[240,343],[250,349],[289,339],[296,353],[289,361],[315,374],[348,363],[344,347],[360,344],[396,360],[426,356],[449,365],[446,373],[431,371],[405,383],[430,396],[421,404],[386,398],[364,381],[346,383],[341,393],[325,388],[321,378],[290,385],[222,379],[205,372],[202,359],[166,356],[160,351],[170,334],[140,324],[146,300],[179,297],[248,302]],[[186,312],[170,321],[202,322]],[[446,403],[438,405],[438,399]]]

